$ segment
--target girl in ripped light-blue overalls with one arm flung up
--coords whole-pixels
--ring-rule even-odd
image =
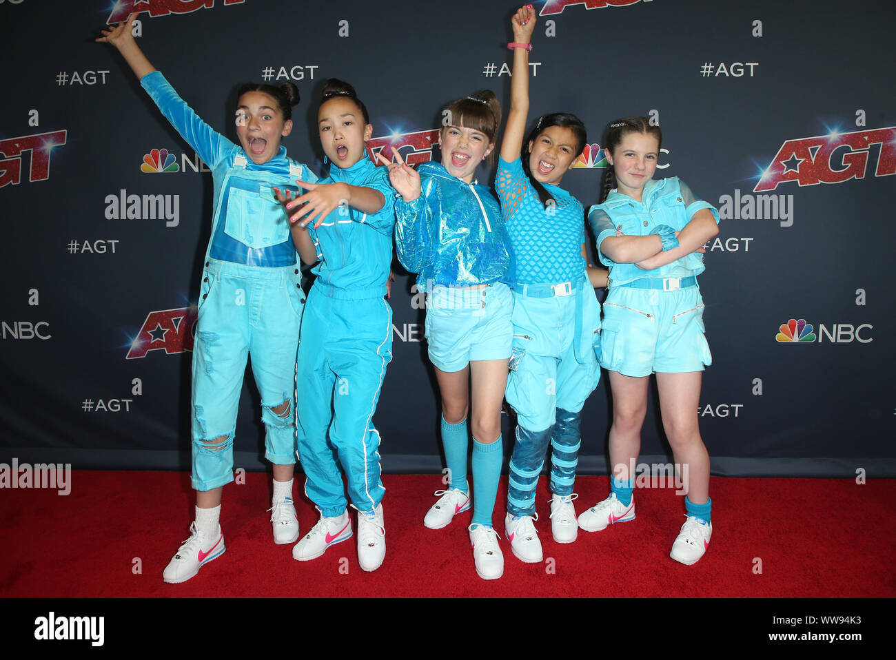
[[[220,501],[233,481],[233,442],[239,394],[252,354],[262,395],[265,458],[273,464],[271,522],[274,541],[294,542],[292,503],[296,426],[294,378],[299,324],[305,303],[296,246],[274,197],[274,186],[314,175],[280,146],[292,130],[294,85],[244,85],[237,100],[236,145],[195,115],[134,41],[132,14],[103,30],[97,41],[115,46],[177,132],[211,167],[214,215],[202,274],[193,351],[193,474],[196,490],[191,536],[164,570],[166,582],[184,582],[224,552]],[[263,304],[262,304],[263,301]]]

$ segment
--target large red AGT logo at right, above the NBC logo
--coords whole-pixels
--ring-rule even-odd
[[[774,190],[787,181],[803,186],[864,179],[874,145],[880,145],[874,176],[896,174],[896,126],[853,133],[833,131],[785,141],[762,172],[753,192]]]

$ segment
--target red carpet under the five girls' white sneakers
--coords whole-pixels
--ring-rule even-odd
[[[304,482],[304,476],[297,483]],[[668,557],[684,522],[672,489],[639,489],[637,519],[556,544],[539,481],[537,527],[545,563],[523,564],[500,542],[504,578],[473,569],[465,512],[441,530],[423,527],[439,476],[383,476],[387,553],[358,567],[355,538],[308,562],[271,540],[270,477],[224,489],[227,552],[181,585],[161,572],[188,536],[189,478],[170,472],[72,473],[72,492],[0,491],[0,596],[896,596],[896,480],[713,477],[714,535],[692,567]],[[606,476],[580,476],[576,510],[607,494]],[[506,477],[495,511],[504,536]],[[317,511],[299,486],[302,533]],[[499,513],[500,511],[500,513]],[[139,560],[139,561],[138,561]],[[760,564],[761,562],[761,564]],[[139,569],[139,570],[138,570]],[[761,572],[760,572],[761,569]]]

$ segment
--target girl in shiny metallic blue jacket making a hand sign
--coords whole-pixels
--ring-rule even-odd
[[[429,359],[442,397],[442,444],[448,490],[423,524],[446,527],[470,508],[467,482],[467,416],[472,409],[473,520],[469,527],[476,572],[482,579],[504,574],[504,555],[492,527],[501,463],[501,403],[511,354],[513,300],[502,283],[511,263],[510,239],[498,202],[474,183],[476,168],[495,150],[501,105],[490,90],[455,100],[442,129],[442,163],[417,170],[389,163],[396,201],[395,244],[405,268],[419,273],[426,291]]]

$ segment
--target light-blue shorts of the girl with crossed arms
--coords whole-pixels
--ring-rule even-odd
[[[600,366],[626,376],[700,372],[712,364],[698,287],[610,287],[603,304]]]

